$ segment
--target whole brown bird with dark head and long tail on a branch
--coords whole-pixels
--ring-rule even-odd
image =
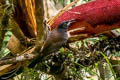
[[[52,30],[48,34],[48,37],[42,46],[41,52],[38,54],[35,60],[29,64],[28,67],[33,68],[37,63],[42,62],[45,57],[64,46],[69,38],[67,33],[68,28],[74,22],[74,19],[62,21],[54,30]]]

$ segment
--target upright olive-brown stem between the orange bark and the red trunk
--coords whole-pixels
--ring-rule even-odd
[[[36,10],[36,23],[37,23],[37,40],[39,41],[38,44],[40,45],[41,41],[44,40],[44,6],[43,0],[35,0],[35,10]],[[43,41],[42,41],[43,42]]]

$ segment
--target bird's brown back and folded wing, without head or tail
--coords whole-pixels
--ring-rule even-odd
[[[48,36],[40,55],[47,56],[61,48],[67,42],[67,38],[65,38],[67,36],[64,35],[65,33],[59,33],[57,30],[52,31]]]

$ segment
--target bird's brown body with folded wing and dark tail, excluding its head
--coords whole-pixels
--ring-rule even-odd
[[[42,52],[37,56],[37,58],[29,65],[29,67],[34,67],[37,63],[41,62],[45,57],[47,57],[48,55],[50,55],[52,52],[57,51],[60,47],[62,47],[66,42],[67,39],[64,39],[64,33],[59,33],[56,32],[57,30],[52,31],[44,45],[43,45],[43,49]]]

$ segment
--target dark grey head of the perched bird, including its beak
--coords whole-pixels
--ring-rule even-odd
[[[65,31],[67,31],[68,28],[69,28],[69,26],[70,26],[72,23],[74,23],[74,22],[75,22],[74,19],[67,20],[67,21],[62,21],[62,22],[58,25],[57,29],[63,29],[63,30],[65,30]]]

